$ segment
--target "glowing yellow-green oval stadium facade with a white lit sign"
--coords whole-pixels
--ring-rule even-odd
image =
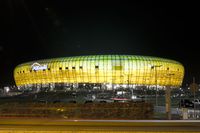
[[[19,88],[65,90],[179,87],[183,77],[184,67],[177,61],[135,55],[53,58],[20,64],[14,70]]]

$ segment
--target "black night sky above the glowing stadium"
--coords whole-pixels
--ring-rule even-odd
[[[185,67],[200,83],[200,11],[194,2],[0,1],[0,86],[16,65],[91,54],[148,55]]]

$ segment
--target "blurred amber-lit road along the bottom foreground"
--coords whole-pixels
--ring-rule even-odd
[[[65,120],[1,118],[0,133],[18,132],[199,132],[198,120]]]

